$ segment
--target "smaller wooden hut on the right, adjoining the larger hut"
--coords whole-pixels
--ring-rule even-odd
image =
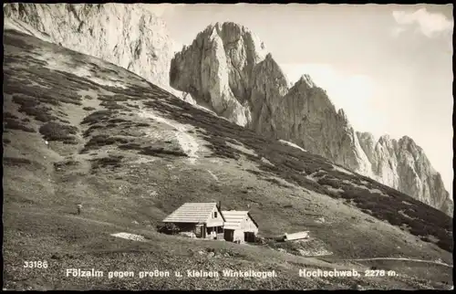
[[[258,224],[248,211],[224,210],[224,239],[236,243],[254,242]]]

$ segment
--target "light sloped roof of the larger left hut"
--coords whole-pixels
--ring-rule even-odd
[[[164,223],[203,223],[211,215],[213,203],[186,203],[163,219]]]

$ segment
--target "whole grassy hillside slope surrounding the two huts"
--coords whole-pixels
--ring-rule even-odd
[[[452,264],[452,219],[439,210],[194,108],[97,58],[12,30],[4,32],[4,48],[5,289],[452,285],[452,267],[440,263],[354,260]],[[266,239],[309,230],[311,240],[242,246],[155,231],[184,202],[218,200],[227,209],[249,205]],[[110,236],[119,232],[146,240]],[[326,256],[313,256],[317,251]],[[37,260],[49,267],[24,268]],[[398,276],[298,277],[300,268],[371,267]],[[73,278],[66,268],[274,269],[278,277]]]

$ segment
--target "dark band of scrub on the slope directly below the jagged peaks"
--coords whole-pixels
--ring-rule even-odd
[[[172,106],[170,105],[170,100],[172,100]],[[144,105],[153,110],[160,110],[161,113],[166,113],[172,120],[179,121],[182,124],[191,124],[198,130],[203,130],[205,134],[204,140],[210,142],[206,146],[212,150],[213,156],[237,159],[243,155],[257,163],[262,171],[259,173],[249,170],[251,173],[256,175],[275,173],[278,177],[290,183],[299,184],[317,193],[350,200],[359,209],[380,220],[388,221],[394,226],[408,224],[411,234],[415,236],[436,237],[439,240],[437,242],[438,246],[452,252],[451,217],[435,208],[420,203],[420,201],[406,194],[402,194],[384,184],[374,182],[358,173],[340,173],[321,156],[310,152],[301,152],[294,147],[277,142],[275,138],[260,136],[252,130],[243,129],[229,121],[220,120],[203,110],[187,105],[184,101],[169,97],[163,100],[147,100]],[[181,108],[181,111],[174,110],[176,106]],[[189,115],[183,116],[181,115],[182,112]],[[257,156],[244,154],[233,149],[224,143],[226,141],[240,142],[245,147],[253,149]],[[261,161],[262,157],[273,163],[274,166],[263,163]],[[326,176],[320,179],[318,183],[307,179],[306,175],[301,173],[306,171],[306,174],[310,174],[320,170],[321,172],[319,173],[326,174]],[[344,183],[343,180],[347,180],[348,183]],[[274,182],[274,180],[268,181]],[[362,182],[367,184],[362,184]],[[378,189],[388,196],[371,193],[368,189],[358,188],[353,184],[362,184],[368,186],[368,188]],[[342,189],[344,192],[331,193],[326,186]],[[404,204],[404,201],[410,205]],[[409,208],[413,210],[407,210]],[[412,217],[412,219],[399,215],[399,210],[407,211],[407,215]]]

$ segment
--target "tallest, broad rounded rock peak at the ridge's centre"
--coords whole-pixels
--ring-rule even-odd
[[[172,58],[170,79],[175,89],[191,93],[194,100],[242,126],[259,123],[255,104],[287,90],[285,75],[264,44],[233,22],[216,23],[199,33]],[[258,92],[269,94],[257,100]]]

